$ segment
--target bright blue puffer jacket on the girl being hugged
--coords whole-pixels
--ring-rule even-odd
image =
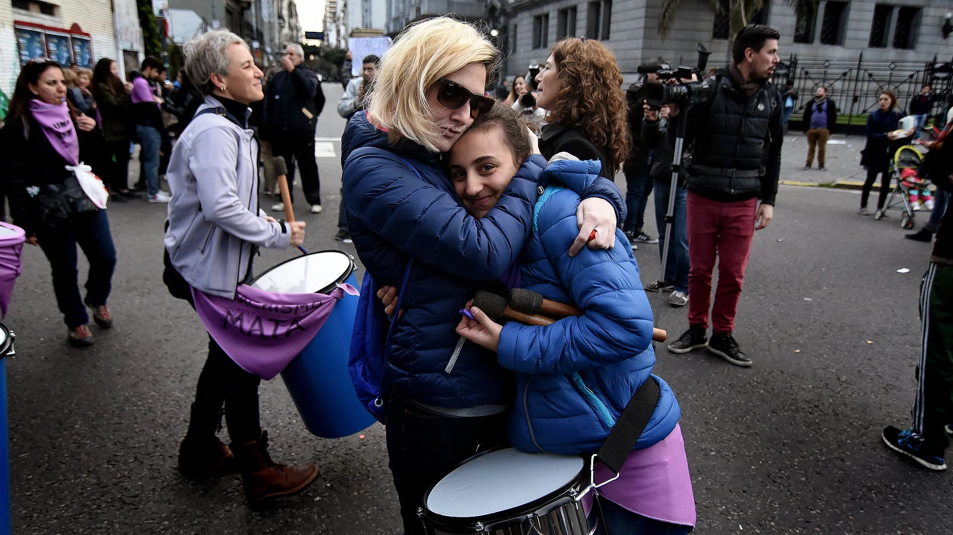
[[[563,160],[547,167],[543,180],[592,181],[598,171],[598,161]],[[596,453],[643,381],[658,381],[660,395],[636,449],[667,437],[681,415],[672,389],[651,375],[652,310],[631,249],[566,255],[578,233],[578,202],[572,191],[552,185],[539,198],[536,228],[519,257],[520,287],[584,315],[546,327],[510,321],[499,338],[500,365],[517,372],[510,442],[530,453]],[[616,235],[627,244],[621,231]]]

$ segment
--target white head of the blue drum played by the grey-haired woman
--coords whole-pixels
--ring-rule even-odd
[[[347,278],[352,269],[351,257],[323,251],[280,263],[256,278],[252,286],[278,294],[314,294]]]

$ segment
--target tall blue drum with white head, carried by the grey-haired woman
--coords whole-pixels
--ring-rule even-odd
[[[338,284],[357,287],[354,259],[340,251],[320,251],[286,260],[252,281],[252,286],[280,294],[327,294]],[[301,420],[314,435],[337,439],[375,422],[357,399],[348,357],[357,296],[337,299],[327,322],[281,372]]]

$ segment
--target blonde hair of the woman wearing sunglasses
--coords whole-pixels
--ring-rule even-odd
[[[367,117],[396,143],[407,138],[437,153],[438,133],[429,117],[427,90],[437,80],[472,63],[493,77],[497,49],[471,24],[450,17],[419,22],[404,31],[380,64]]]

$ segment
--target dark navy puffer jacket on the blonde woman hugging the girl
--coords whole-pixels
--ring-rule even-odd
[[[441,407],[511,401],[512,375],[475,343],[463,343],[451,371],[445,368],[461,340],[459,309],[485,281],[500,278],[526,244],[545,160],[528,158],[497,206],[475,219],[462,208],[440,154],[406,141],[392,145],[364,112],[348,122],[341,153],[348,230],[368,273],[378,285],[399,288],[414,258],[385,387]],[[587,186],[578,191],[606,198],[624,214],[612,182]]]

